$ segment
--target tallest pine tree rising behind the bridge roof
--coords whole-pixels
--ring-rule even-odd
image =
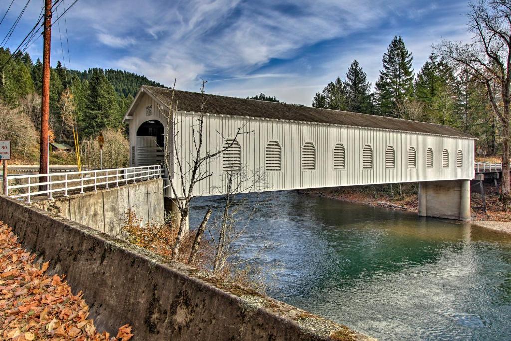
[[[399,101],[413,90],[412,54],[401,37],[395,36],[383,55],[383,71],[376,82],[376,104],[382,116],[396,116]]]

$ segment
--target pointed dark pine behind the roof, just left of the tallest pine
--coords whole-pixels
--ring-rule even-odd
[[[357,60],[351,64],[346,73],[346,97],[348,110],[361,113],[372,113],[373,102],[371,101],[371,83],[367,81],[367,75]]]

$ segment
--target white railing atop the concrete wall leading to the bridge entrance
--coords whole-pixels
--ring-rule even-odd
[[[84,193],[85,190],[98,190],[114,185],[136,183],[137,181],[161,177],[161,166],[139,166],[128,168],[113,168],[103,170],[88,170],[82,172],[61,172],[48,174],[25,174],[7,177],[6,195],[14,198],[25,198],[31,202],[34,196],[48,196],[52,199],[55,194],[68,196],[69,193]],[[40,181],[46,178],[45,181]],[[39,190],[39,186],[46,186]]]

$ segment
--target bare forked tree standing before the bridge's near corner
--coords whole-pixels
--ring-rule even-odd
[[[224,137],[218,132],[224,140],[222,148],[210,151],[204,148],[204,108],[207,98],[204,94],[204,85],[207,82],[202,80],[201,92],[201,110],[200,113],[191,113],[195,121],[192,129],[192,148],[190,150],[190,161],[181,158],[181,145],[178,144],[178,121],[174,112],[178,111],[179,98],[175,96],[176,82],[172,87],[172,96],[169,111],[166,112],[160,109],[160,114],[166,119],[165,129],[165,144],[164,144],[164,163],[169,176],[169,186],[172,190],[172,195],[176,199],[176,205],[181,215],[179,219],[179,229],[174,245],[172,246],[172,257],[177,259],[179,253],[179,246],[183,239],[188,215],[190,213],[190,201],[194,198],[194,189],[200,181],[207,179],[213,175],[213,172],[205,169],[205,165],[220,155],[222,152],[229,149],[236,143],[237,138],[241,134],[248,132],[242,131],[243,127],[239,127],[233,137]],[[174,104],[174,97],[176,102]],[[186,151],[185,151],[186,152]],[[176,182],[177,181],[177,182]],[[178,186],[179,185],[179,186]]]

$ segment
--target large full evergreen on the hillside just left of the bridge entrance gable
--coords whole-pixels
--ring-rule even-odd
[[[102,69],[89,72],[82,131],[86,136],[96,136],[104,128],[117,128],[122,120],[115,90]]]

